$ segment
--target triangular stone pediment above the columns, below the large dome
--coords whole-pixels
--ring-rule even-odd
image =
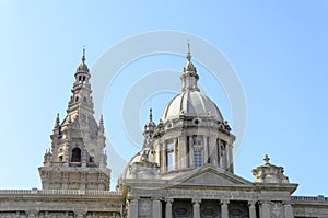
[[[251,182],[233,173],[213,167],[203,167],[191,172],[177,176],[174,183],[180,185],[251,185]]]

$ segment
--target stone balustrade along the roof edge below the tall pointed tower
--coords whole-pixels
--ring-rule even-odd
[[[102,195],[120,196],[120,192],[97,191],[97,190],[0,190],[0,197],[3,195]]]

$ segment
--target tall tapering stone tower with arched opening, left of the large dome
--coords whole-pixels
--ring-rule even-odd
[[[67,115],[60,122],[57,114],[51,149],[46,150],[44,165],[38,168],[44,190],[109,190],[110,170],[107,168],[104,121],[94,118],[90,71],[82,62],[68,103]]]

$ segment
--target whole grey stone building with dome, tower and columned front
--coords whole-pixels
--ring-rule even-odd
[[[38,168],[43,188],[0,190],[0,218],[328,217],[328,198],[292,196],[297,184],[268,156],[253,170],[254,182],[234,174],[235,136],[200,92],[189,46],[179,94],[157,124],[150,110],[142,150],[109,191],[104,121],[94,117],[84,50],[74,77],[67,115],[57,115]]]

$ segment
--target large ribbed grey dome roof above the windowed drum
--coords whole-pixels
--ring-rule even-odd
[[[168,102],[162,115],[162,121],[172,119],[180,115],[195,117],[212,116],[215,121],[223,122],[218,106],[208,96],[199,91],[184,91]]]

